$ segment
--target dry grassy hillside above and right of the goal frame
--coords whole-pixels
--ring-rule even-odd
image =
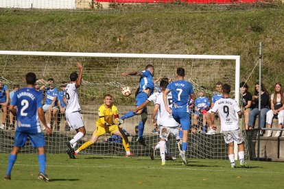
[[[241,55],[246,79],[263,44],[263,81],[283,81],[284,9],[46,12],[1,10],[0,49]],[[257,78],[257,71],[252,77]],[[255,79],[250,79],[250,84]]]

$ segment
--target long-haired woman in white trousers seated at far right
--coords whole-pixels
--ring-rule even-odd
[[[271,128],[272,119],[278,118],[278,127],[282,128],[284,123],[284,97],[280,83],[275,84],[274,93],[270,96],[270,110],[266,113],[266,128]],[[281,131],[277,131],[275,136],[279,137]],[[268,130],[266,136],[272,136],[272,130]]]

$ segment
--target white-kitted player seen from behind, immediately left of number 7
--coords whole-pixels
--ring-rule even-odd
[[[169,83],[167,81],[161,81],[161,89],[164,91],[167,88],[167,85]],[[172,105],[172,97],[171,92],[167,94],[167,106],[171,108]],[[159,125],[160,127],[160,154],[162,159],[162,165],[165,165],[165,144],[168,141],[169,134],[172,133],[174,136],[176,136],[176,140],[180,140],[179,136],[179,123],[176,122],[172,116],[172,114],[169,114],[167,110],[165,109],[165,103],[163,100],[163,95],[158,95],[156,99],[156,103],[154,106],[153,114],[152,114],[152,120],[154,120],[156,113],[160,110],[159,116]]]

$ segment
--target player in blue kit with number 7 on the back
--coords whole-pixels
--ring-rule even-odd
[[[163,93],[163,100],[167,112],[173,114],[176,122],[180,123],[182,127],[182,164],[187,164],[187,158],[185,152],[187,151],[187,141],[189,136],[189,129],[191,127],[191,121],[189,118],[188,101],[189,97],[196,99],[193,87],[189,81],[185,81],[185,69],[177,68],[176,70],[176,81],[172,82],[167,86]],[[173,101],[172,109],[167,105],[167,94],[171,92]]]

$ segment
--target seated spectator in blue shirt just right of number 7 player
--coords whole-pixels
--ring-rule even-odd
[[[206,113],[209,110],[210,101],[207,97],[204,97],[204,91],[200,90],[199,97],[196,99],[195,103],[195,113],[194,113],[194,121],[195,124],[198,125],[198,121],[202,120],[202,133],[206,133]]]

